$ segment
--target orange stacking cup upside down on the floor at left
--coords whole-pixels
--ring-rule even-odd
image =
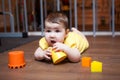
[[[9,68],[17,69],[25,66],[24,51],[11,51],[8,55]]]

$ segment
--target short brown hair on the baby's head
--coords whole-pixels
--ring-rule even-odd
[[[68,28],[68,17],[62,12],[52,12],[50,13],[45,21],[57,24],[63,24],[65,29]]]

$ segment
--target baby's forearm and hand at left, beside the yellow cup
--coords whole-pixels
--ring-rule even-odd
[[[49,48],[47,50],[42,50],[40,47],[38,47],[34,53],[34,56],[36,60],[51,60],[51,53]]]

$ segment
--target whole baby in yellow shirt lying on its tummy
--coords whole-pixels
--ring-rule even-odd
[[[81,53],[89,47],[86,37],[77,29],[68,29],[68,18],[60,12],[50,13],[45,19],[45,37],[39,41],[34,56],[36,60],[51,60],[52,47],[63,51],[71,62],[79,62]]]

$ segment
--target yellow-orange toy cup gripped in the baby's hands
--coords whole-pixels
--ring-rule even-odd
[[[66,53],[64,53],[63,51],[55,51],[52,49],[52,47],[51,54],[52,54],[51,58],[54,64],[60,63],[67,57]]]

